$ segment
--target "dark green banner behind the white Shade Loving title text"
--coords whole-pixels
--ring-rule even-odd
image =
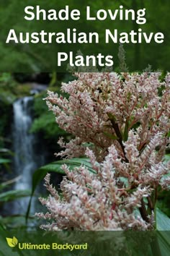
[[[81,19],[79,21],[27,21],[24,20],[24,7],[28,5],[35,6],[39,4],[42,9],[62,9],[67,4],[71,9],[79,9],[81,11]],[[95,13],[98,9],[119,9],[123,5],[124,9],[138,9],[146,8],[145,25],[138,25],[135,21],[120,21],[106,20],[106,21],[86,21],[86,6],[91,7],[91,13]],[[117,48],[118,45],[104,43],[100,40],[98,45],[45,45],[38,44],[14,44],[6,45],[5,41],[10,29],[15,29],[19,32],[38,32],[45,30],[47,32],[64,32],[67,27],[75,27],[81,32],[97,32],[99,38],[103,38],[104,30],[115,30],[121,32],[130,32],[130,30],[138,31],[142,28],[146,33],[164,33],[164,43],[142,43],[142,44],[128,44],[125,45],[126,60],[129,71],[143,71],[151,64],[155,71],[161,69],[169,71],[170,67],[170,46],[169,46],[169,22],[170,4],[169,0],[128,0],[128,1],[78,1],[78,0],[51,0],[51,1],[22,1],[22,0],[8,0],[0,3],[0,72],[66,72],[66,65],[57,67],[57,53],[58,51],[73,51],[74,54],[81,50],[84,55],[102,53],[104,55],[114,56],[114,69],[117,71]],[[122,71],[122,70],[120,70]]]

